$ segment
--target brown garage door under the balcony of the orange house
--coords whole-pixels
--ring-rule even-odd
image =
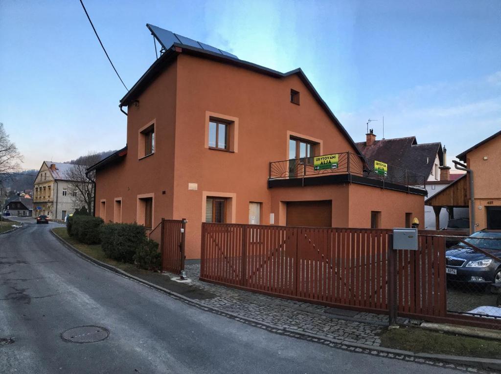
[[[289,201],[287,226],[331,227],[332,200]]]

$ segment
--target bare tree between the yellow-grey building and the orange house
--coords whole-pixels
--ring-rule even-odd
[[[86,174],[87,168],[101,160],[98,153],[89,152],[87,156],[78,159],[78,165],[72,167],[66,172],[66,178],[73,190],[77,191],[76,196],[72,194],[72,200],[75,207],[81,209],[85,207],[90,214],[93,214],[96,173]]]

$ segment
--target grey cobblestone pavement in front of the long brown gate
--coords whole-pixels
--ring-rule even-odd
[[[200,304],[236,314],[242,318],[273,324],[360,344],[379,346],[378,335],[388,323],[388,316],[363,313],[328,306],[276,298],[198,280],[200,264],[188,261],[185,266],[189,287],[210,292],[213,298],[198,300]],[[166,273],[171,278],[178,275]]]

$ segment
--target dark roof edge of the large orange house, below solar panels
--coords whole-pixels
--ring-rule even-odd
[[[150,29],[151,31],[150,26],[151,25],[147,24],[148,29]],[[164,31],[167,32],[167,30]],[[251,70],[278,79],[283,79],[292,75],[297,75],[301,79],[303,84],[307,87],[307,89],[310,91],[310,93],[313,95],[318,104],[326,112],[328,117],[334,122],[334,125],[341,131],[341,133],[345,136],[348,142],[353,146],[353,149],[356,152],[358,151],[358,148],[355,145],[355,142],[351,138],[350,134],[348,134],[343,125],[341,125],[341,122],[339,122],[334,113],[332,113],[326,102],[320,97],[319,93],[317,92],[315,87],[313,87],[312,83],[306,77],[305,73],[301,70],[301,68],[292,70],[288,73],[281,73],[273,69],[268,69],[257,64],[240,60],[236,58],[236,56],[234,55],[231,56],[224,55],[221,53],[221,52],[224,53],[224,51],[221,50],[218,51],[219,52],[216,53],[212,52],[210,49],[196,48],[191,45],[175,43],[175,42],[172,43],[170,48],[166,48],[166,51],[148,68],[148,70],[142,75],[141,78],[139,78],[139,80],[134,84],[134,86],[129,90],[129,92],[127,92],[127,94],[122,98],[122,100],[120,100],[120,108],[127,107],[131,102],[133,102],[167,66],[169,66],[173,61],[175,61],[178,55],[183,53],[186,55],[191,55],[216,61],[222,64],[237,66],[242,69]]]

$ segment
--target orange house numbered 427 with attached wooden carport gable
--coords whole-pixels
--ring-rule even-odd
[[[469,207],[470,231],[501,229],[501,131],[456,156],[473,174],[473,196],[469,173],[426,199],[426,205]],[[459,163],[460,165],[460,163]],[[457,168],[457,164],[456,164]],[[471,201],[473,199],[473,202]]]

